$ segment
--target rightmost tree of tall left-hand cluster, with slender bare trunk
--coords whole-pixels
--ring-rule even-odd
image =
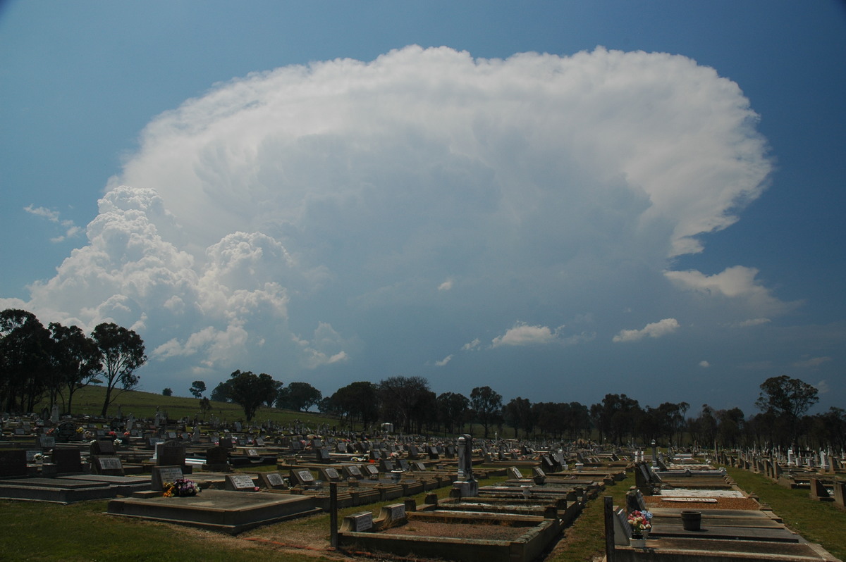
[[[106,417],[108,406],[124,390],[131,390],[138,385],[135,371],[147,361],[144,354],[144,341],[134,330],[128,330],[114,323],[102,323],[94,328],[91,337],[100,349],[102,374],[106,382],[106,396],[100,415]],[[113,390],[121,385],[121,390],[113,396]]]

